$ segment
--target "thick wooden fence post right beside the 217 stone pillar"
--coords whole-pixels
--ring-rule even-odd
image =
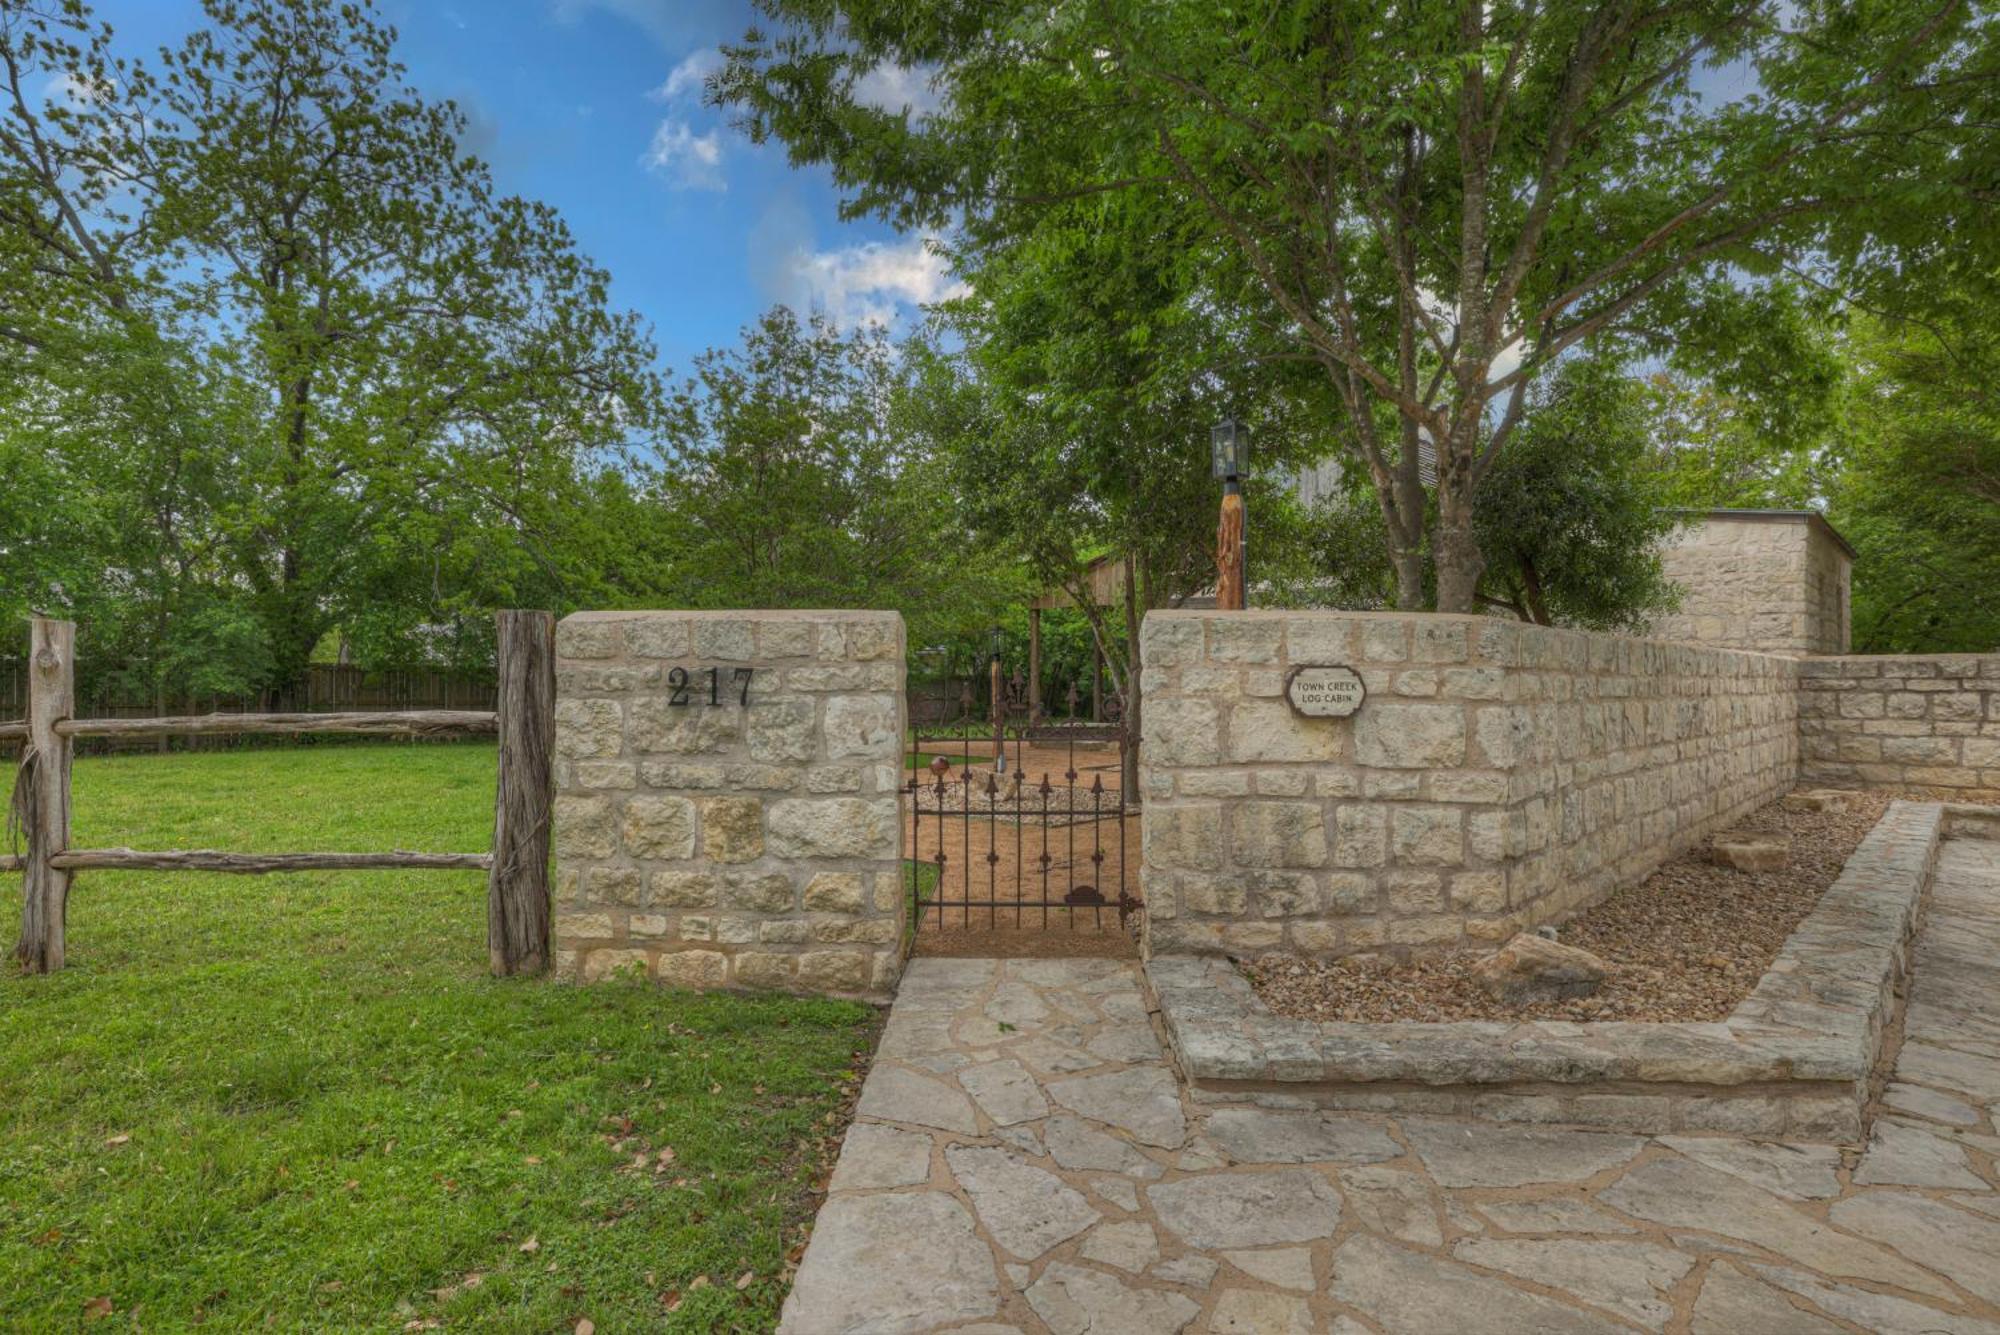
[[[554,807],[556,618],[498,616],[500,787],[486,879],[486,953],[496,975],[548,967],[548,843]]]

